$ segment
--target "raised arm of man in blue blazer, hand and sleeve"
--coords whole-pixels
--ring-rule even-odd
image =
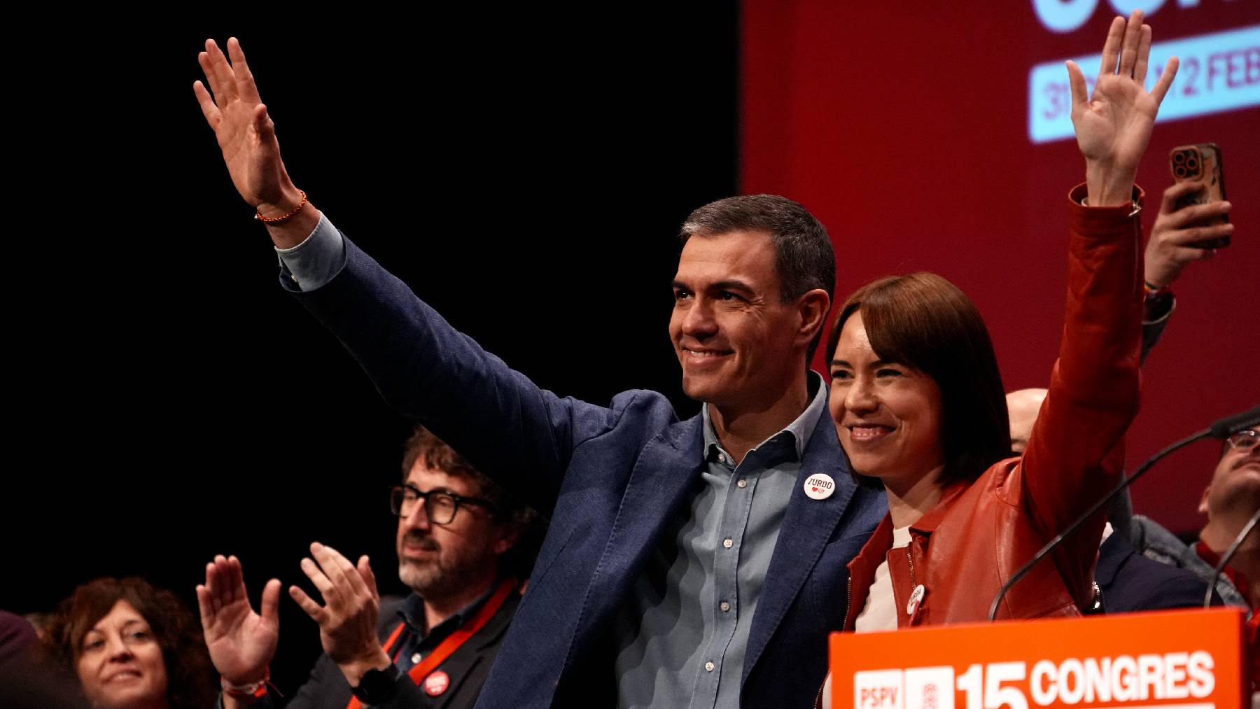
[[[306,290],[307,273],[301,286],[296,283],[301,258],[284,254],[284,286],[341,340],[394,409],[423,423],[536,509],[549,510],[572,451],[573,422],[581,419],[585,426],[576,434],[590,438],[606,429],[612,414],[559,399],[510,370],[321,220],[285,170],[275,125],[241,44],[233,38],[227,47],[229,57],[207,40],[199,62],[209,89],[197,82],[193,91],[233,185],[258,210],[277,248],[302,244],[299,253],[311,261],[336,263],[324,273],[328,280]],[[312,233],[316,238],[306,241]],[[469,287],[485,287],[475,278],[472,269]],[[576,416],[578,408],[586,416]]]

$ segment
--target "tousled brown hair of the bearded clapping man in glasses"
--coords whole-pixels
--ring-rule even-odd
[[[538,557],[538,549],[547,531],[547,525],[538,513],[500,487],[499,484],[481,475],[462,456],[456,453],[455,448],[447,446],[423,426],[417,426],[407,442],[403,443],[403,482],[411,475],[416,461],[423,462],[425,467],[430,470],[469,480],[476,486],[476,496],[485,497],[495,506],[495,521],[513,528],[518,535],[512,549],[499,557],[499,572],[519,579],[529,578],[529,572],[533,570],[534,559]]]

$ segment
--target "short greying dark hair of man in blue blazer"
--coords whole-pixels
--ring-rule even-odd
[[[685,244],[692,237],[716,237],[731,232],[764,232],[775,248],[779,298],[791,302],[822,288],[830,298],[835,291],[835,251],[823,223],[800,204],[774,194],[728,196],[692,212],[678,234]],[[824,319],[825,321],[825,319]],[[814,356],[823,327],[805,351]]]

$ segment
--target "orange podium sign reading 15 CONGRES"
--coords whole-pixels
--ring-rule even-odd
[[[1242,612],[832,633],[832,708],[1241,709]]]

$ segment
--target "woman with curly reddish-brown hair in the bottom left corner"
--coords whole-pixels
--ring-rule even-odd
[[[47,656],[78,676],[92,706],[204,709],[218,698],[197,617],[142,578],[98,578],[49,620]]]

